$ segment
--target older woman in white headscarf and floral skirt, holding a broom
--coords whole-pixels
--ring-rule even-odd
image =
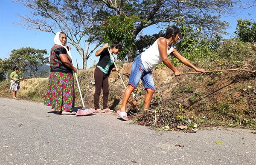
[[[75,102],[73,71],[67,35],[60,31],[54,37],[50,54],[50,74],[44,105],[51,106],[57,114],[73,115]]]

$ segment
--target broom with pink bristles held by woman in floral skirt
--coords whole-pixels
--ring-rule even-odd
[[[70,50],[68,50],[68,51],[69,51],[68,55],[72,59],[71,52],[70,52]],[[72,60],[72,64],[73,64],[73,60]],[[82,104],[83,104],[83,108],[79,109],[76,112],[76,116],[86,116],[86,115],[89,115],[89,114],[93,114],[95,112],[95,109],[85,108],[85,106],[84,106],[84,100],[83,100],[83,96],[82,96],[82,93],[81,93],[81,89],[80,89],[80,85],[79,85],[79,81],[78,81],[76,72],[75,72],[75,77],[76,77],[76,83],[77,83],[77,86],[78,86],[78,89],[79,89],[79,94],[80,94],[80,97],[81,97],[81,101],[82,101]]]

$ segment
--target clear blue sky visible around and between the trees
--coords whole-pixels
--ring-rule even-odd
[[[241,0],[241,3],[249,2],[253,3],[255,0]],[[247,5],[248,6],[248,5]],[[20,18],[17,14],[26,15],[29,14],[29,10],[19,3],[13,2],[12,0],[0,0],[0,58],[8,58],[9,54],[13,49],[19,49],[21,47],[33,47],[37,49],[46,49],[49,53],[50,48],[53,46],[54,34],[27,30],[22,26],[15,24],[20,22]],[[227,28],[227,33],[223,37],[230,38],[234,31],[236,31],[237,19],[253,19],[255,22],[256,18],[256,6],[249,9],[237,9],[236,14],[224,15],[222,20],[230,23],[230,27]],[[143,34],[152,34],[158,32],[155,26],[145,28]],[[72,51],[73,59],[77,58],[79,61],[79,68],[82,68],[82,59],[79,53],[73,48]],[[93,61],[98,61],[98,57],[94,54],[88,60],[87,68],[93,65]],[[76,63],[75,63],[76,65]]]

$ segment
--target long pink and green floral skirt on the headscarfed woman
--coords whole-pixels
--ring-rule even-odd
[[[75,105],[73,74],[50,72],[44,105],[54,111],[72,111]]]

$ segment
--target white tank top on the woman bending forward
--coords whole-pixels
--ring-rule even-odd
[[[160,37],[163,38],[163,37]],[[154,67],[157,64],[162,63],[162,58],[158,49],[158,44],[157,41],[160,39],[158,38],[153,45],[151,45],[147,50],[145,50],[144,52],[141,53],[141,61],[143,63],[143,66],[145,68],[145,70],[151,71],[152,69],[154,69]],[[166,40],[166,38],[164,38]],[[167,42],[167,40],[166,40]],[[169,55],[170,53],[172,53],[173,51],[173,47],[171,47],[169,50],[167,49],[167,44],[166,44],[166,51],[167,51],[167,55]]]

